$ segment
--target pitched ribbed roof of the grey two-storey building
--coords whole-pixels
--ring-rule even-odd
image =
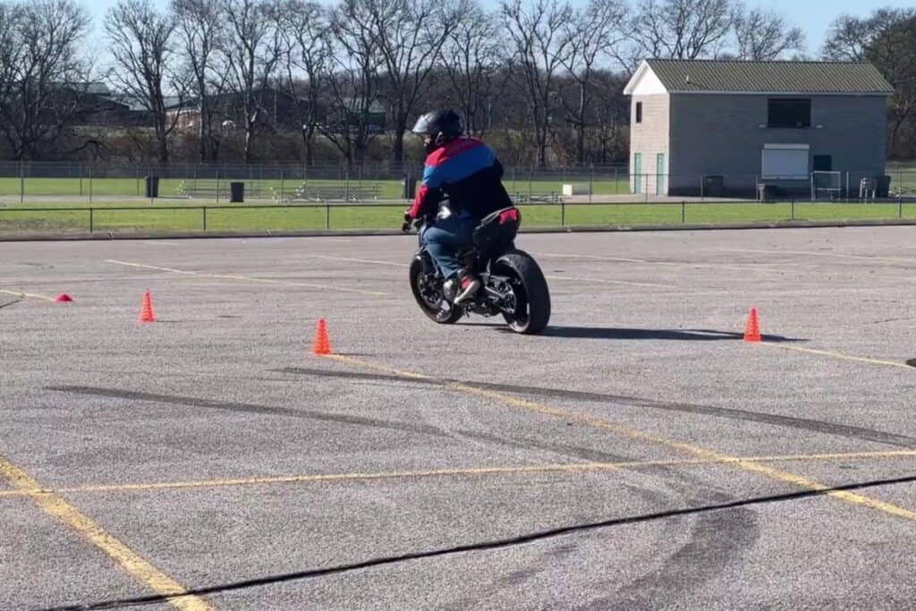
[[[627,84],[627,94],[646,71],[652,71],[668,93],[894,93],[867,62],[645,60]]]

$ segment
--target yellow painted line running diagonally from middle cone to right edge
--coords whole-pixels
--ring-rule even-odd
[[[401,371],[392,367],[379,366],[375,363],[369,363],[361,359],[356,359],[350,356],[341,356],[341,355],[331,355],[326,358],[333,358],[334,360],[340,361],[342,363],[347,363],[355,366],[363,366],[369,369],[376,369],[381,371],[387,371],[387,373],[399,375],[399,376],[412,376],[418,379],[425,380],[436,380],[436,378],[431,376],[423,376],[422,374],[416,374],[412,372]],[[474,395],[484,398],[492,398],[501,403],[505,403],[509,406],[527,409],[528,411],[543,414],[545,416],[552,416],[554,418],[559,418],[566,421],[576,421],[582,422],[597,429],[603,429],[605,431],[614,432],[620,436],[627,437],[639,442],[649,442],[656,445],[660,445],[666,448],[671,448],[672,450],[678,450],[683,453],[692,454],[698,458],[708,459],[713,463],[722,463],[729,464],[734,466],[737,469],[742,471],[747,471],[751,473],[757,473],[760,475],[766,475],[770,479],[774,479],[779,482],[786,484],[791,484],[792,486],[799,486],[806,488],[808,490],[828,490],[830,486],[824,486],[819,482],[815,482],[812,479],[803,477],[802,475],[795,475],[787,471],[781,471],[779,469],[774,469],[765,464],[759,464],[754,462],[749,462],[742,460],[737,456],[729,456],[728,454],[718,453],[714,450],[709,450],[698,445],[693,445],[688,442],[681,442],[677,440],[672,440],[660,435],[654,435],[651,433],[637,431],[636,429],[630,429],[629,427],[623,426],[621,424],[616,424],[608,420],[602,420],[600,418],[594,418],[592,416],[586,416],[583,414],[577,414],[572,411],[567,411],[565,409],[555,408],[550,405],[545,405],[537,403],[535,401],[529,401],[523,398],[517,398],[512,395],[507,395],[505,393],[496,392],[494,390],[486,390],[485,388],[473,387],[467,384],[462,383],[441,383],[442,387],[447,387],[452,390],[463,392],[464,394]],[[898,507],[884,501],[880,501],[869,496],[859,495],[853,492],[845,491],[834,491],[826,493],[828,496],[833,496],[839,500],[842,500],[846,503],[850,503],[859,507],[869,507],[871,509],[876,509],[883,513],[886,513],[891,516],[896,516],[898,518],[906,518],[912,521],[916,521],[916,511],[911,511],[909,509],[904,509],[903,507]]]

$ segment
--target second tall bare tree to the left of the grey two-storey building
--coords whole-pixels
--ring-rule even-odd
[[[561,0],[501,0],[506,32],[512,42],[512,61],[521,86],[529,94],[534,119],[538,165],[547,165],[547,139],[551,129],[554,82],[569,53],[562,26],[573,9]]]

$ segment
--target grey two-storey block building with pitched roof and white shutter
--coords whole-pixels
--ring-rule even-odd
[[[633,192],[803,191],[815,171],[857,191],[885,171],[893,89],[868,63],[645,60],[624,91]]]

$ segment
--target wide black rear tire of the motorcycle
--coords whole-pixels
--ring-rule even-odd
[[[516,315],[503,314],[509,328],[525,335],[534,335],[547,328],[551,320],[551,292],[538,262],[528,253],[517,250],[496,259],[493,273],[513,278],[518,301]]]

